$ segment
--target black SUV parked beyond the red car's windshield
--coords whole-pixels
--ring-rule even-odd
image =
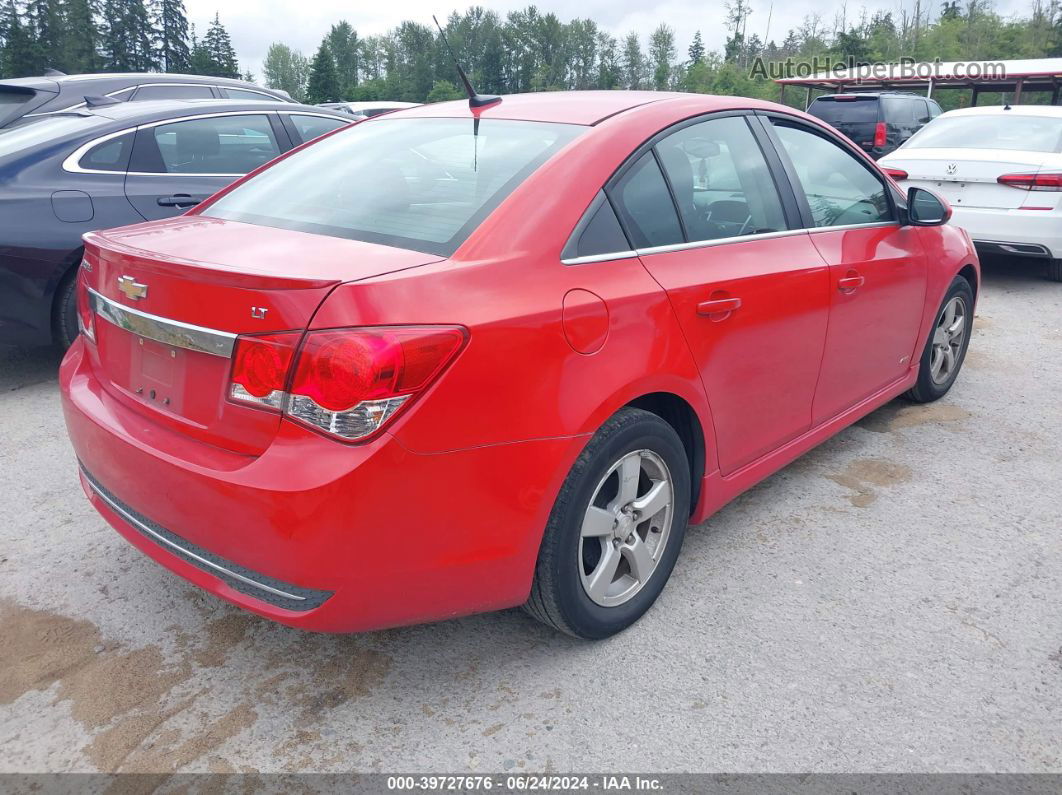
[[[940,116],[936,100],[900,91],[818,97],[807,111],[839,129],[877,159]]]

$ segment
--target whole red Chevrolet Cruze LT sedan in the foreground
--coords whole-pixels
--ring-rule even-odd
[[[135,145],[178,173],[255,145],[183,163],[153,132]],[[524,605],[602,638],[688,523],[948,391],[979,280],[948,214],[741,98],[378,117],[86,238],[62,368],[82,484],[148,555],[286,624]]]

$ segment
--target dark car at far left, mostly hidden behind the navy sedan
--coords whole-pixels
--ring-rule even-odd
[[[133,102],[208,99],[292,101],[287,91],[228,77],[161,72],[63,74],[50,71],[40,77],[0,81],[0,127],[25,117],[84,107],[86,96]]]

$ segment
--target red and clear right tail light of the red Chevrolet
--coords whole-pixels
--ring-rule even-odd
[[[281,411],[340,439],[362,440],[427,388],[466,338],[459,326],[240,336],[229,397]]]

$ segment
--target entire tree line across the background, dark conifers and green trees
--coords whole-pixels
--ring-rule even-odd
[[[183,0],[0,0],[0,75],[161,70],[240,76],[228,33],[216,16],[198,38]],[[852,58],[857,64],[1031,58],[1062,55],[1060,0],[1032,0],[1005,17],[992,0],[904,0],[896,11],[812,14],[771,35],[750,0],[705,12],[705,25],[726,31],[709,50],[700,31],[680,51],[662,22],[643,38],[615,36],[593,19],[562,20],[534,5],[506,15],[483,6],[452,12],[444,30],[477,89],[513,93],[564,89],[654,89],[777,98],[777,86],[752,75],[765,62]],[[686,39],[688,32],[684,32]],[[330,27],[312,56],[276,41],[262,64],[263,82],[307,102],[404,100],[462,96],[439,32],[407,20],[362,36],[347,21]],[[252,77],[253,75],[244,75]],[[793,92],[795,93],[795,92]],[[959,101],[941,92],[947,107]],[[803,98],[792,97],[794,103]]]

